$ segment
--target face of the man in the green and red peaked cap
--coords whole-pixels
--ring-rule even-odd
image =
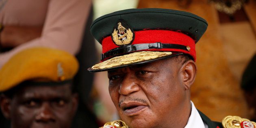
[[[181,67],[170,58],[108,71],[109,93],[121,119],[131,128],[186,125],[190,100]]]

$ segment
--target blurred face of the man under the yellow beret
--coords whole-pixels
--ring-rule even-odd
[[[23,87],[10,100],[12,128],[69,128],[77,107],[70,86]]]

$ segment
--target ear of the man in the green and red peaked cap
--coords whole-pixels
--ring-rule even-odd
[[[197,71],[197,67],[193,60],[186,61],[181,66],[181,74],[182,74],[182,82],[184,83],[185,90],[189,90],[191,85],[195,81],[195,75]]]

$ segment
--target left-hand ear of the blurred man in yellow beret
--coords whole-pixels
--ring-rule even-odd
[[[0,107],[5,118],[10,119],[11,115],[11,99],[4,94],[0,95]]]

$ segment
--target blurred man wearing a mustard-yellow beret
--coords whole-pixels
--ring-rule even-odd
[[[0,106],[11,128],[69,128],[78,105],[72,78],[78,62],[51,48],[30,48],[0,70]]]

